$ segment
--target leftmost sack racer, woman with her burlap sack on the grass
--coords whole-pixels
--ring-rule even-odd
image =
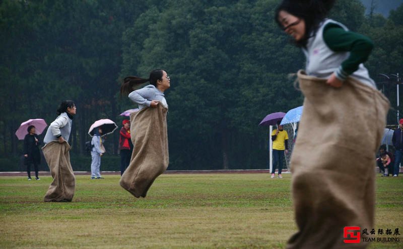
[[[50,123],[43,139],[43,155],[53,177],[44,201],[65,202],[72,201],[76,186],[76,177],[70,164],[71,147],[68,143],[76,105],[72,100],[65,100],[56,112],[58,116]]]

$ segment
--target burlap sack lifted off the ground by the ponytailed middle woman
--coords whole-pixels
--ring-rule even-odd
[[[130,114],[134,149],[120,186],[136,197],[146,197],[151,184],[168,167],[167,111],[159,104]]]

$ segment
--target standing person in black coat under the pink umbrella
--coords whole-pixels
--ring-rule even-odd
[[[28,134],[24,138],[24,164],[27,166],[28,180],[31,180],[31,164],[34,165],[35,169],[35,180],[40,180],[38,177],[38,165],[41,163],[41,154],[39,152],[39,141],[38,135],[35,134],[35,127],[28,127]]]

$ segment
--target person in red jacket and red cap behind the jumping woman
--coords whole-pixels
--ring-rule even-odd
[[[120,129],[119,149],[120,149],[120,175],[126,170],[130,163],[131,151],[133,145],[130,139],[130,121],[124,119],[122,121],[123,127]]]

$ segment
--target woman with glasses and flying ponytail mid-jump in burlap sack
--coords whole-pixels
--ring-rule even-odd
[[[150,82],[139,90],[133,87]],[[128,94],[139,104],[139,111],[130,114],[130,134],[134,145],[130,164],[120,178],[120,186],[135,197],[146,197],[154,180],[168,167],[168,136],[166,115],[168,104],[164,92],[170,79],[164,70],[150,73],[148,79],[124,78],[120,94]]]

